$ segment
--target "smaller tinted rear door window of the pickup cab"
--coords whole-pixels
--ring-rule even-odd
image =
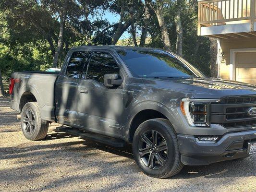
[[[66,70],[69,77],[81,78],[84,75],[85,55],[85,51],[73,52]]]

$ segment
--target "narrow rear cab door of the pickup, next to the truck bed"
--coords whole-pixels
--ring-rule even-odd
[[[85,77],[88,52],[74,51],[56,82],[56,118],[58,122],[77,125],[77,84]]]

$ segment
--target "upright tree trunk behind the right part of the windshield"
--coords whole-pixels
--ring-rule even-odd
[[[183,27],[181,22],[181,12],[177,12],[177,16],[174,19],[176,25],[176,33],[177,33],[177,40],[176,40],[176,54],[182,57],[182,40],[183,40]]]

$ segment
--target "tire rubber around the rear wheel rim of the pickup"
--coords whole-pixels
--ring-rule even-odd
[[[35,115],[35,130],[32,134],[29,134],[29,133],[25,132],[25,129],[24,129],[23,118],[26,116],[26,113],[25,113],[26,109],[29,109],[29,110],[33,111],[33,113]],[[22,127],[22,132],[23,132],[26,139],[35,140],[35,138],[37,137],[37,135],[40,131],[39,130],[39,123],[40,123],[40,120],[38,118],[36,106],[33,105],[31,102],[26,103],[24,105],[22,111],[21,111],[21,127]]]

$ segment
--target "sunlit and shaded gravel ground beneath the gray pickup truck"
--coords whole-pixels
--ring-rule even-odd
[[[55,132],[24,138],[17,113],[0,97],[0,191],[256,192],[256,155],[209,166],[185,166],[171,179],[144,175],[131,146],[111,148]]]

